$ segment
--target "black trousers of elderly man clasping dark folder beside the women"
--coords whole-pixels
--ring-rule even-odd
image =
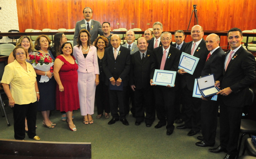
[[[109,86],[108,86],[108,93],[109,93],[109,102],[110,102],[110,112],[111,112],[112,118],[119,119],[119,115],[118,115],[118,106],[119,106],[120,119],[121,120],[125,119],[124,101],[125,101],[125,94],[126,94],[126,86],[123,87],[122,91],[109,90]]]

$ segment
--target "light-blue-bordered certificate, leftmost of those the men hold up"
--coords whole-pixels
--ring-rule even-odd
[[[153,84],[160,86],[170,85],[174,87],[174,82],[176,78],[176,71],[167,71],[167,70],[155,70],[153,77]]]

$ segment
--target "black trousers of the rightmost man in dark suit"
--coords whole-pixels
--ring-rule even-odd
[[[220,102],[220,146],[228,155],[237,155],[243,108],[235,108]]]

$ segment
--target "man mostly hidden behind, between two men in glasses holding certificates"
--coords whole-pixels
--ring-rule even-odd
[[[184,42],[185,39],[185,35],[184,32],[182,30],[177,30],[176,32],[174,32],[174,39],[175,42],[174,44],[172,44],[172,46],[176,47],[177,49],[179,49],[181,52],[183,52],[183,50],[186,48],[186,42]],[[176,124],[181,124],[183,123],[183,119],[184,118],[184,108],[181,108],[181,112],[180,112],[180,104],[182,104],[180,102],[181,99],[181,86],[180,86],[180,74],[176,75],[176,79],[177,79],[177,84],[179,89],[177,89],[177,91],[175,92],[175,101],[174,101],[174,105],[175,105],[175,123]],[[182,104],[184,105],[184,104]]]

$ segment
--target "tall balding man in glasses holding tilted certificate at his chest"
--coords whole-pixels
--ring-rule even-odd
[[[200,124],[200,117],[201,117],[201,99],[192,97],[193,95],[193,88],[195,79],[201,76],[201,72],[204,68],[206,57],[209,53],[205,46],[205,41],[203,39],[204,32],[203,27],[199,25],[195,25],[191,28],[191,37],[193,41],[188,42],[185,50],[186,52],[192,56],[198,57],[199,61],[196,65],[196,69],[193,75],[188,74],[183,69],[178,71],[179,74],[182,75],[181,77],[181,88],[184,103],[184,114],[185,114],[185,124],[177,126],[178,129],[187,129],[192,128],[188,136],[196,135],[196,133],[200,132],[201,124]]]

